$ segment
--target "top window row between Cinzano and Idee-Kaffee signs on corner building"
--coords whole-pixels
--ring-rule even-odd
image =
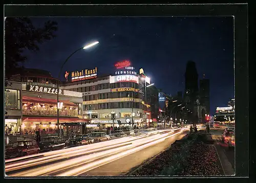
[[[109,89],[109,88],[119,88],[119,87],[132,87],[132,88],[141,88],[141,85],[133,82],[120,82],[120,83],[102,83],[93,86],[77,87],[71,88],[69,90],[76,92],[87,92],[87,91],[96,91],[100,89]]]

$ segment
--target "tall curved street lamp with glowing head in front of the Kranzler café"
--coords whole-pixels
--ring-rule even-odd
[[[88,44],[88,45],[86,45],[85,47],[82,47],[82,48],[79,48],[79,49],[77,49],[76,51],[74,51],[66,60],[65,60],[65,62],[61,65],[61,67],[60,67],[60,71],[59,71],[59,74],[58,74],[58,79],[57,79],[57,133],[58,133],[58,136],[59,136],[59,108],[60,108],[60,105],[58,105],[59,104],[59,80],[60,80],[60,74],[61,74],[61,71],[62,71],[62,68],[63,68],[63,66],[67,63],[67,61],[69,60],[69,58],[72,56],[72,55],[74,55],[76,52],[78,52],[79,50],[81,50],[81,49],[88,49],[88,48],[90,48],[90,47],[92,47],[92,46],[94,46],[95,44],[98,44],[99,43],[99,41],[96,41],[96,42],[93,42],[93,43],[91,43],[91,44]]]

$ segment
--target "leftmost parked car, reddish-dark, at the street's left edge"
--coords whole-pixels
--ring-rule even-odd
[[[6,158],[14,158],[20,156],[26,156],[31,154],[37,154],[40,149],[35,140],[21,140],[15,141],[12,147],[6,149]]]

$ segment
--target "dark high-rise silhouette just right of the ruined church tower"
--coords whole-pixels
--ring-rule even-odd
[[[200,80],[200,105],[205,108],[205,113],[210,113],[210,82],[209,79]]]

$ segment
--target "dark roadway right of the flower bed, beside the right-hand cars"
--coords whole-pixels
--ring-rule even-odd
[[[221,140],[221,134],[224,128],[211,128],[212,139],[216,141],[216,149],[220,157],[225,175],[234,174],[234,148],[228,148],[228,145]]]

